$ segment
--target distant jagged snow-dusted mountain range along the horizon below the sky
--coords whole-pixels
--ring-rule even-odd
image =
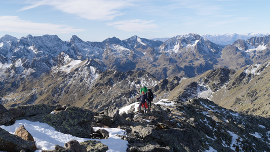
[[[267,39],[267,36],[252,37],[249,40],[238,40],[232,46],[237,47],[240,51],[249,47],[245,50],[247,53],[245,57],[250,60],[250,63],[253,63],[254,61],[249,59],[250,54],[258,56],[260,54],[256,54],[254,51],[265,52],[264,50],[269,47]],[[241,41],[243,43],[245,41],[245,44],[242,44]],[[85,42],[76,35],[73,35],[69,41],[62,41],[57,35],[27,35],[20,39],[5,35],[0,39],[0,70],[3,72],[17,61],[23,62],[24,66],[28,67],[35,63],[45,69],[51,69],[57,64],[53,62],[53,58],[64,52],[72,59],[94,59],[102,66],[120,71],[144,69],[160,80],[177,75],[181,71],[181,75],[194,77],[216,66],[230,67],[226,61],[230,55],[224,57],[226,51],[230,49],[234,50],[234,48],[224,50],[196,33],[178,35],[164,43],[143,39],[136,35],[123,41],[112,37],[103,42]],[[239,52],[238,50],[237,52]],[[264,57],[264,59],[268,59],[268,57]],[[257,61],[261,60],[256,60],[256,63]],[[246,63],[243,64],[246,65]],[[176,67],[176,71],[171,70],[173,66]],[[242,66],[240,64],[239,67],[233,67]]]

